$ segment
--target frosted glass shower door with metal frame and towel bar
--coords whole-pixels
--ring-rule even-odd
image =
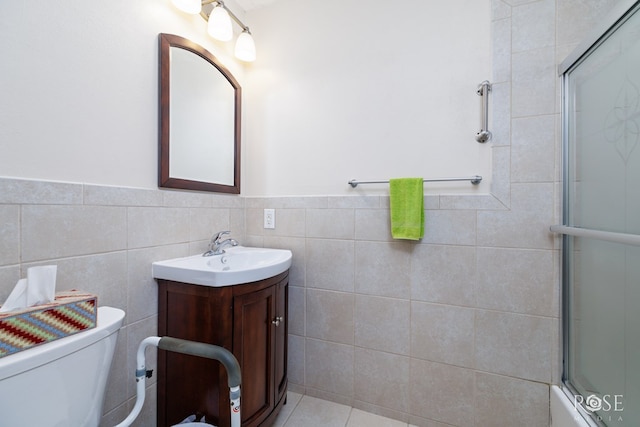
[[[564,79],[564,380],[607,426],[640,426],[640,13]]]

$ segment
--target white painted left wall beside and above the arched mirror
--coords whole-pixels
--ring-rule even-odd
[[[161,32],[242,84],[232,44],[169,0],[2,1],[0,28],[0,176],[156,188]]]

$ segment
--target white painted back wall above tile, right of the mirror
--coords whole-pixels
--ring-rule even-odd
[[[258,60],[245,91],[248,195],[354,194],[352,178],[482,175],[490,144],[490,0],[278,0],[250,11]],[[388,187],[362,186],[357,192]]]

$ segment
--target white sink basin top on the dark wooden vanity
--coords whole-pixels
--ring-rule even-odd
[[[151,271],[156,279],[228,286],[267,279],[290,266],[290,250],[235,246],[227,248],[222,255],[204,257],[198,254],[154,262]]]

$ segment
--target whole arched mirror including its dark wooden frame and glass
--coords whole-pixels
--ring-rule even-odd
[[[240,194],[241,93],[202,46],[160,34],[160,187]]]

